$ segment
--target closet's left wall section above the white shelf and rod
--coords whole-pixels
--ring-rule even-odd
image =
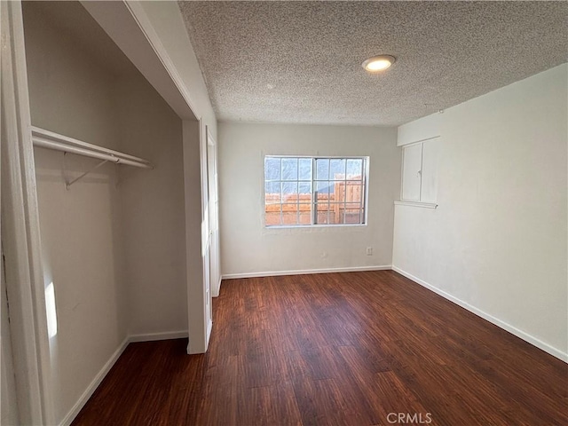
[[[33,125],[115,148],[114,75],[46,19],[38,5],[22,7]]]

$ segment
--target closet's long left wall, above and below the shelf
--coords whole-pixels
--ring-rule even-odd
[[[32,123],[102,146],[117,146],[114,78],[33,4],[24,4]],[[75,173],[98,161],[69,156]],[[50,339],[52,397],[63,419],[126,336],[113,168],[67,191],[63,154],[36,149],[46,284],[53,283],[57,335]]]

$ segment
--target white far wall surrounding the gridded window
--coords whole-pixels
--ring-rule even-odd
[[[265,228],[265,154],[368,155],[368,225]],[[221,122],[218,174],[225,277],[390,266],[400,181],[396,129]]]

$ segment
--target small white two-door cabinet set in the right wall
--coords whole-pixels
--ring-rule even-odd
[[[401,201],[436,206],[439,138],[402,147]]]

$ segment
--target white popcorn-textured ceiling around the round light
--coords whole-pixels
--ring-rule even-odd
[[[566,62],[565,2],[179,2],[221,121],[398,125]],[[397,62],[369,75],[363,60]]]

